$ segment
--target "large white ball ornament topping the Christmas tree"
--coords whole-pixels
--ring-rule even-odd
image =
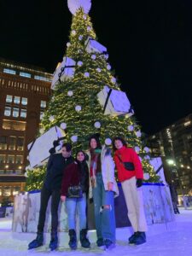
[[[67,0],[68,9],[74,15],[79,8],[84,9],[84,13],[88,14],[91,7],[91,0]]]

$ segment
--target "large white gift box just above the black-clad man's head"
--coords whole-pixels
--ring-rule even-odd
[[[54,126],[32,143],[28,144],[28,160],[30,162],[30,166],[32,168],[42,166],[45,162],[47,162],[50,155],[49,149],[53,148],[53,142],[57,141],[61,137],[65,137],[65,132],[60,127]],[[60,149],[61,145],[55,148],[56,151],[59,151]]]

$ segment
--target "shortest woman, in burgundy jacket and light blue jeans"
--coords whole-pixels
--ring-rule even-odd
[[[82,196],[79,198],[70,198],[67,195],[70,186],[80,185],[82,189]],[[69,230],[69,246],[72,249],[77,248],[76,236],[76,209],[79,214],[79,230],[80,242],[82,247],[90,247],[90,241],[87,239],[87,218],[86,218],[86,195],[89,190],[89,171],[85,160],[84,151],[79,150],[76,154],[76,160],[73,164],[67,166],[63,172],[61,185],[61,201],[66,201],[67,215],[68,215],[68,230]]]

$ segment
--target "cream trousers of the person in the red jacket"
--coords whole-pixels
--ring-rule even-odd
[[[131,177],[121,183],[125,195],[128,218],[130,219],[134,232],[147,231],[147,223],[143,207],[142,187],[136,187],[136,177]]]

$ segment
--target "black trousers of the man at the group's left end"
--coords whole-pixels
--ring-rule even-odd
[[[58,207],[60,203],[61,191],[46,189],[44,186],[41,190],[41,206],[38,218],[38,232],[44,232],[44,222],[46,218],[47,205],[51,196],[51,233],[57,231],[58,226]]]

